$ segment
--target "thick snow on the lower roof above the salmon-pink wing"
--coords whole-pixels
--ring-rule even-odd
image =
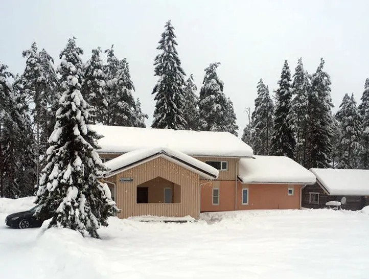
[[[315,183],[311,172],[285,156],[242,158],[238,171],[242,183]]]

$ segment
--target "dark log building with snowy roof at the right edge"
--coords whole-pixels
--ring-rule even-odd
[[[341,208],[361,210],[369,204],[369,170],[310,169],[316,184],[303,190],[302,206],[323,208],[341,202]]]

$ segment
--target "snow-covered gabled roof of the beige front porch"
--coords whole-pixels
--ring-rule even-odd
[[[106,172],[104,176],[112,176],[157,157],[165,157],[168,160],[174,161],[177,165],[189,169],[207,179],[216,179],[219,175],[217,169],[198,159],[173,149],[156,147],[137,149],[105,162],[105,166],[110,171]]]

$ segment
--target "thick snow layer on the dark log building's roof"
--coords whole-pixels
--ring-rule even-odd
[[[332,196],[368,196],[369,170],[310,169]]]

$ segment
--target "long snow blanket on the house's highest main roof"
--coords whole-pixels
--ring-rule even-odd
[[[187,131],[90,125],[103,135],[99,153],[126,153],[136,149],[167,147],[187,155],[251,157],[252,149],[228,132]]]

